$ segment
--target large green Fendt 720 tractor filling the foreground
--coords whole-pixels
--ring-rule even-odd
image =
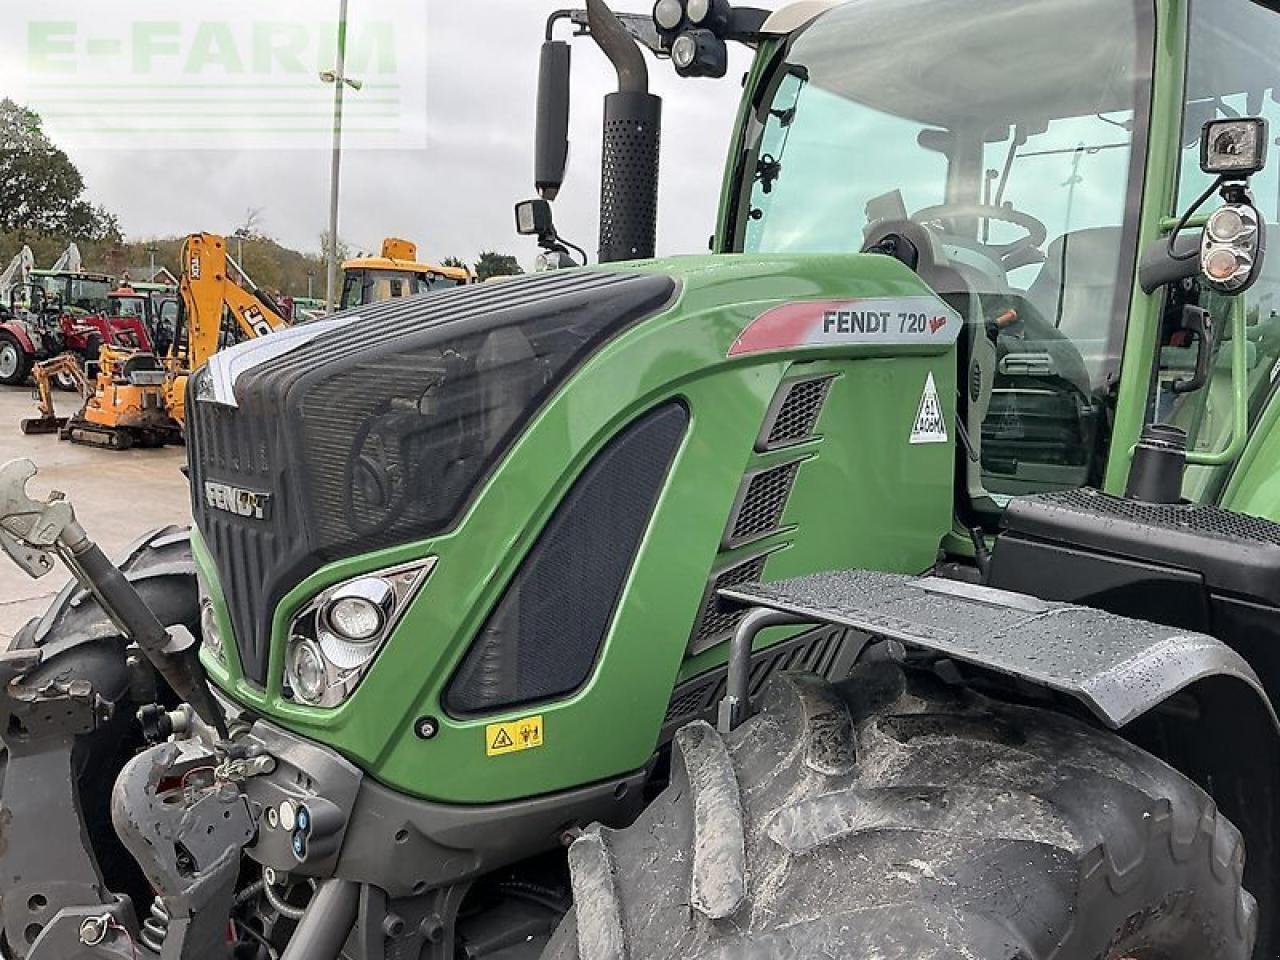
[[[1280,954],[1280,13],[590,0],[552,265],[566,26],[599,266],[224,351],[118,566],[0,471],[4,955]]]

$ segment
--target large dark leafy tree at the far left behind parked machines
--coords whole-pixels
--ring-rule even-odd
[[[116,219],[83,195],[84,178],[45,133],[40,115],[0,100],[0,230],[119,239]]]

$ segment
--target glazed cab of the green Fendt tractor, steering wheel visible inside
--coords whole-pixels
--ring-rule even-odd
[[[842,5],[786,38],[742,125],[728,250],[908,256],[964,316],[961,442],[991,512],[1010,495],[1103,481],[1121,367],[1142,366],[1126,344],[1158,347],[1146,420],[1183,425],[1193,451],[1230,433],[1225,323],[1204,346],[1206,388],[1170,393],[1201,352],[1181,307],[1203,301],[1225,320],[1225,298],[1181,278],[1147,303],[1135,269],[1158,242],[1152,206],[1174,200],[1164,178],[1179,183],[1169,215],[1213,180],[1198,163],[1204,123],[1280,125],[1280,18],[1248,0],[1193,3],[1175,113],[1153,99],[1171,79],[1153,13],[1110,0],[1001,0],[980,17],[961,3]],[[1174,143],[1161,140],[1170,123]],[[1253,184],[1270,223],[1277,169]],[[1265,269],[1244,307],[1254,408],[1280,360],[1277,279]],[[1148,310],[1160,315],[1149,347],[1132,323]],[[1193,471],[1188,485],[1206,495],[1221,481]]]

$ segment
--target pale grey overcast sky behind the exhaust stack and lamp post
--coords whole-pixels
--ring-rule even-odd
[[[255,38],[244,32],[239,18],[279,18],[284,9],[280,3],[242,0],[228,0],[219,6],[216,15],[228,18],[225,23],[233,27],[227,29],[234,31],[234,41],[246,51],[242,58],[246,63],[241,65],[247,72],[236,74],[238,81],[232,82],[223,69],[230,51],[211,45],[216,40],[212,33],[193,36],[189,20],[182,22],[182,37],[174,27],[173,56],[141,60],[137,49],[131,54],[129,45],[137,47],[140,42],[137,22],[154,18],[155,10],[168,12],[169,18],[174,15],[172,4],[152,4],[155,10],[148,13],[147,3],[113,6],[109,18],[101,15],[97,0],[42,5],[28,17],[59,20],[52,26],[47,20],[28,20],[24,31],[9,31],[8,38],[0,37],[0,60],[8,64],[0,64],[0,93],[32,102],[37,109],[44,106],[50,133],[84,174],[91,198],[118,214],[129,238],[196,230],[229,233],[243,221],[247,209],[261,207],[261,230],[289,246],[319,248],[329,201],[329,154],[323,148],[323,136],[294,138],[291,142],[301,146],[282,150],[262,134],[211,133],[197,116],[221,108],[180,102],[182,110],[169,113],[189,114],[182,120],[188,124],[182,128],[188,131],[186,134],[160,136],[145,125],[125,137],[104,132],[113,124],[137,124],[148,115],[155,120],[163,108],[132,96],[140,91],[151,96],[156,88],[193,88],[198,83],[207,90],[227,86],[232,92],[260,95],[253,88],[257,78],[247,65]],[[343,156],[340,236],[361,248],[376,247],[384,236],[406,237],[416,241],[430,259],[474,260],[481,250],[497,248],[516,253],[529,265],[536,248],[531,239],[515,236],[512,204],[532,195],[538,52],[547,14],[562,4],[349,3],[353,33],[362,22],[397,23],[398,83],[387,86],[401,88],[392,110],[410,115],[399,118],[401,132],[389,140],[351,138]],[[332,5],[330,17],[335,15],[337,0]],[[640,5],[649,9],[644,0],[618,4],[636,10]],[[328,9],[328,4],[315,0],[308,0],[307,6],[312,19]],[[264,8],[270,13],[262,14]],[[289,15],[287,10],[284,15]],[[74,27],[69,26],[73,23]],[[325,29],[319,20],[314,26]],[[161,35],[154,35],[148,42],[163,50],[161,40],[169,42],[170,37],[156,37]],[[192,67],[192,44],[202,47],[198,69]],[[113,50],[119,63],[111,60]],[[110,64],[97,65],[93,58]],[[700,252],[707,248],[713,227],[739,81],[749,65],[749,51],[737,47],[732,52],[728,76],[722,81],[681,81],[669,64],[652,58],[649,63],[653,88],[666,101],[659,252]],[[374,70],[369,63],[360,65]],[[614,77],[589,40],[575,41],[573,67],[570,175],[557,204],[557,223],[567,238],[594,253],[602,97],[613,87]],[[113,86],[104,83],[102,77],[116,81],[114,95]],[[330,88],[320,84],[314,69],[301,79],[307,82],[292,86],[314,99],[314,106],[323,111]],[[311,81],[314,87],[308,86]],[[252,102],[252,96],[237,102],[241,109],[268,109],[266,101]],[[376,83],[351,93],[348,122],[375,123],[369,116],[385,114],[379,114],[383,108],[374,105],[388,102]],[[64,104],[87,109],[77,111]],[[362,111],[369,116],[362,116]],[[83,116],[90,114],[104,124],[95,128],[96,133],[84,125]],[[120,120],[116,114],[129,119]],[[383,146],[372,148],[370,145],[375,142]]]

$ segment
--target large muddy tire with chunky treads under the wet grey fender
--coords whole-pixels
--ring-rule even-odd
[[[783,675],[570,849],[556,960],[1245,960],[1240,836],[1120,737],[887,663]]]

